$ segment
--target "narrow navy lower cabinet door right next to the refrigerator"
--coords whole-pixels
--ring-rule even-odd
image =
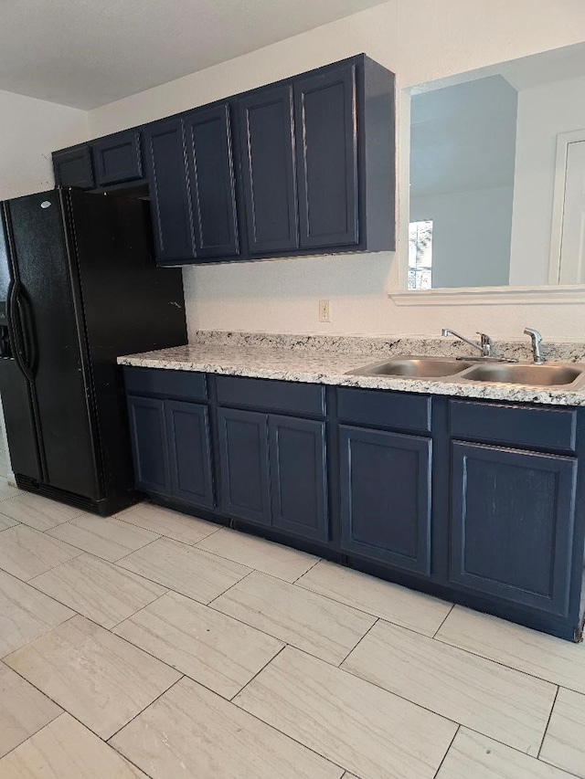
[[[170,495],[164,401],[129,395],[128,414],[136,487]]]

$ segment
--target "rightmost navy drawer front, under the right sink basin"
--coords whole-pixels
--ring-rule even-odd
[[[460,400],[452,400],[449,407],[452,437],[575,451],[577,411],[574,408],[534,408]]]

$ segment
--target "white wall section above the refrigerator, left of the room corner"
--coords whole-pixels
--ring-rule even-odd
[[[87,140],[87,111],[0,90],[0,200],[55,186],[51,152]]]

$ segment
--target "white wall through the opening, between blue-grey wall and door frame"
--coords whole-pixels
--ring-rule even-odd
[[[512,284],[547,283],[557,134],[585,130],[583,95],[585,76],[518,92]]]

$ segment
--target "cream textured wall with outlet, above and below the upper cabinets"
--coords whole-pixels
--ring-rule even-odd
[[[92,137],[131,127],[361,51],[397,74],[397,86],[439,79],[585,39],[582,0],[390,0],[184,79],[90,111]],[[404,216],[404,218],[402,218]],[[401,215],[400,225],[408,222]],[[398,307],[387,284],[392,254],[295,258],[186,268],[189,327],[282,332],[436,333],[441,325],[516,335],[530,322],[547,337],[585,332],[582,307]],[[320,324],[317,301],[332,300]]]

